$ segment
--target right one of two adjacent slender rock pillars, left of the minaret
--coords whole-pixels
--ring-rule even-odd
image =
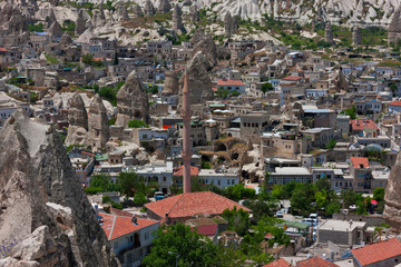
[[[110,137],[107,110],[99,95],[90,101],[87,144],[94,151],[102,151]]]

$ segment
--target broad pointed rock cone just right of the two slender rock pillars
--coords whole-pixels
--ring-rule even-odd
[[[148,97],[135,70],[129,73],[126,83],[117,92],[117,110],[116,126],[127,127],[128,121],[133,119],[148,122]]]

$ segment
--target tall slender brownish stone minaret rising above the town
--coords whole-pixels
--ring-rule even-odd
[[[190,192],[190,96],[188,88],[188,77],[184,77],[183,89],[183,161],[184,161],[184,176],[183,176],[183,192]]]

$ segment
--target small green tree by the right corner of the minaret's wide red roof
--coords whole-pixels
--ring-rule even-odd
[[[239,236],[244,236],[250,229],[250,214],[242,208],[237,209],[234,206],[233,209],[225,209],[222,216],[228,221],[228,229],[236,231]]]

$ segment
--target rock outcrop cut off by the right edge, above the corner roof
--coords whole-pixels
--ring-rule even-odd
[[[401,154],[398,155],[395,165],[392,167],[384,194],[383,216],[388,224],[401,231]]]

